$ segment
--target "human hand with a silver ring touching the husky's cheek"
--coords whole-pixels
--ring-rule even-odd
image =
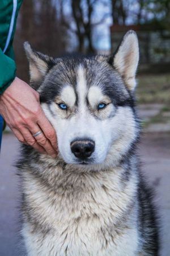
[[[41,108],[39,93],[26,82],[15,77],[0,96],[0,113],[20,142],[57,156],[56,132]],[[42,133],[33,137],[38,131]]]

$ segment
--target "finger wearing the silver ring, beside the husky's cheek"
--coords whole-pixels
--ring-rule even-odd
[[[39,128],[39,130],[36,130],[36,132],[33,131],[33,134],[36,134],[36,133],[39,132],[39,131],[40,131],[40,128]],[[57,157],[57,152],[54,150],[54,148],[52,147],[52,144],[51,144],[51,143],[49,142],[49,140],[45,137],[45,135],[44,135],[43,132],[42,132],[41,134],[37,135],[37,136],[35,137],[35,139],[36,139],[36,142],[37,142],[38,144],[40,144],[42,147],[45,148],[45,151],[46,151],[49,155],[53,156],[54,158]]]

